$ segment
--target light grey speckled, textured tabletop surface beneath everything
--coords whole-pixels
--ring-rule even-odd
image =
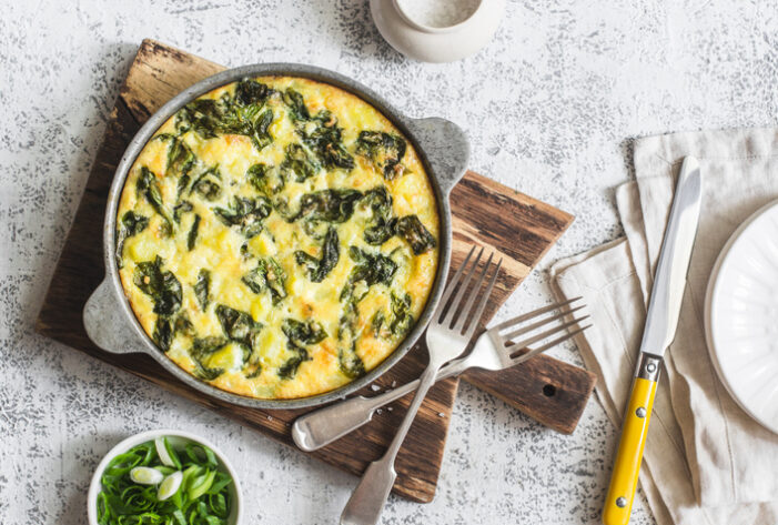
[[[544,267],[619,235],[612,188],[630,176],[630,138],[778,119],[775,0],[511,1],[485,50],[439,65],[396,53],[361,1],[0,1],[3,524],[85,523],[102,454],[151,427],[221,445],[242,474],[247,524],[336,523],[356,482],[32,333],[145,37],[230,65],[330,68],[411,115],[458,122],[471,132],[474,170],[577,215]],[[540,269],[501,315],[548,301]],[[572,346],[554,354],[580,363]],[[384,523],[595,523],[615,440],[594,401],[563,436],[463,385],[435,502],[393,497]],[[653,523],[641,499],[633,523]]]

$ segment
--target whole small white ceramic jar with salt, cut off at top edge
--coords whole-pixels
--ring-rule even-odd
[[[505,0],[371,0],[370,7],[394,49],[423,62],[452,62],[492,40]]]

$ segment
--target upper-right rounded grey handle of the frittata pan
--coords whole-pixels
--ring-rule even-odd
[[[445,119],[408,119],[406,125],[423,148],[445,198],[467,170],[471,145],[462,128]]]

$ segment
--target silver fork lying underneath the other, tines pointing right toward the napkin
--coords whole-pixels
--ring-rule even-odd
[[[437,381],[443,381],[447,377],[459,375],[468,368],[482,368],[488,371],[498,371],[516,366],[525,361],[534,357],[537,354],[545,352],[548,349],[560,344],[564,341],[573,337],[579,332],[589,326],[582,326],[572,332],[566,332],[563,335],[546,342],[542,346],[528,349],[531,344],[544,341],[552,335],[566,331],[577,323],[588,319],[588,315],[573,319],[569,322],[547,327],[549,324],[583,309],[583,305],[576,305],[580,297],[572,299],[563,303],[552,304],[529,313],[518,315],[514,319],[499,323],[486,332],[475,342],[473,350],[465,356],[448,362],[441,368],[437,374]],[[566,310],[562,310],[565,309]],[[532,324],[517,329],[521,324],[542,317],[544,314],[560,310],[550,316],[539,319]],[[529,335],[522,341],[515,341],[519,335],[525,335],[531,332],[544,329],[543,332]],[[512,332],[507,332],[508,330]],[[525,353],[519,353],[526,350]],[[518,354],[518,355],[517,355]],[[329,445],[333,441],[343,437],[350,432],[355,431],[360,426],[368,423],[373,418],[373,414],[382,406],[392,403],[400,397],[413,392],[418,387],[420,380],[406,383],[403,386],[393,388],[383,394],[364,397],[356,396],[350,400],[336,403],[331,406],[311,412],[295,420],[292,425],[292,437],[300,448],[306,452],[319,450]]]

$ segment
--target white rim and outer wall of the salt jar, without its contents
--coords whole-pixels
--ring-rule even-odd
[[[381,36],[401,53],[423,62],[452,62],[477,52],[492,40],[505,0],[481,0],[466,20],[445,28],[414,20],[397,0],[371,0],[370,10]]]

